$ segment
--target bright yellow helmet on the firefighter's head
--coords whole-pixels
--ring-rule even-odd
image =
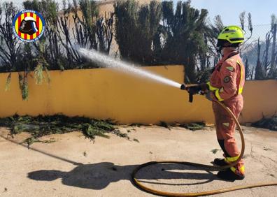
[[[222,29],[222,31],[218,35],[217,46],[239,46],[239,43],[243,43],[243,41],[244,35],[241,27],[231,25]]]

